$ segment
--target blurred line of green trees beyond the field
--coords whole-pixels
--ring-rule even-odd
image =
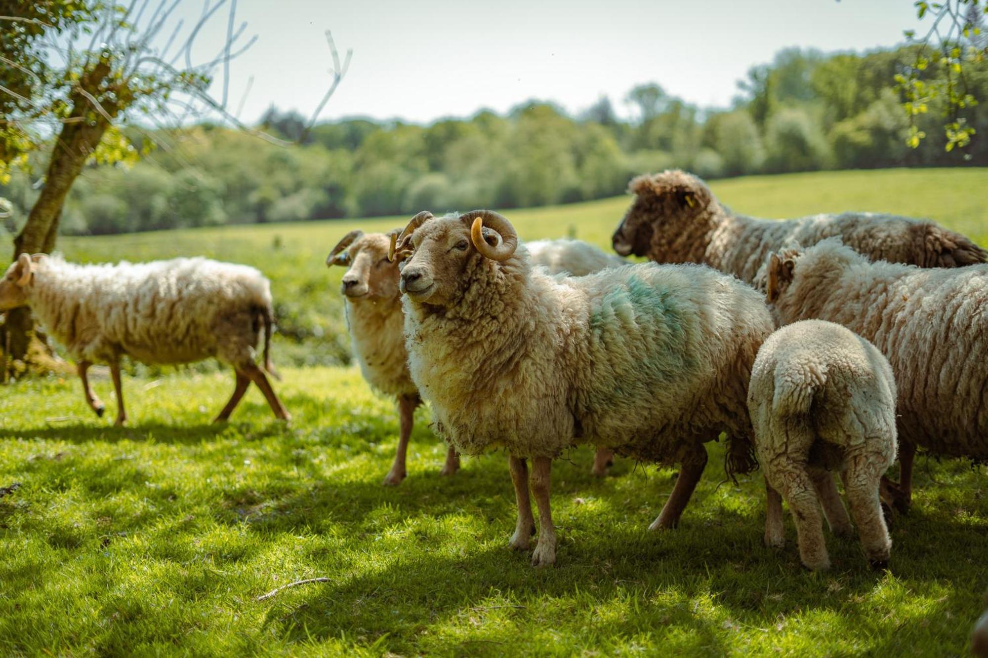
[[[62,216],[68,233],[115,233],[223,223],[410,213],[423,208],[508,208],[621,194],[634,174],[681,167],[704,178],[819,169],[988,165],[988,104],[967,114],[962,151],[945,150],[936,100],[909,122],[894,89],[916,62],[909,47],[866,54],[782,50],[751,69],[729,110],[703,109],[648,84],[623,99],[622,121],[602,98],[578,116],[545,102],[506,116],[429,125],[363,119],[322,123],[272,110],[263,127],[299,147],[213,125],[148,135],[161,144],[135,166],[90,167]],[[937,64],[926,73],[935,75]],[[965,69],[969,92],[988,99],[988,62]],[[348,84],[357,84],[353,80]],[[41,171],[41,168],[38,168]],[[0,196],[23,217],[37,196],[17,177]],[[13,226],[8,226],[13,228]]]

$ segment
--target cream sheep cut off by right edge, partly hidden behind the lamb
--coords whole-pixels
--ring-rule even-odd
[[[988,460],[988,265],[920,269],[872,263],[837,238],[766,263],[782,323],[819,318],[871,341],[898,382],[900,510],[912,498],[917,447]]]

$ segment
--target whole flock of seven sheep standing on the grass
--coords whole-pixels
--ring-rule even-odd
[[[721,205],[681,171],[635,178],[614,234],[630,264],[577,240],[523,245],[491,210],[420,212],[388,234],[347,234],[326,261],[342,291],[358,363],[394,396],[400,435],[384,479],[398,484],[423,400],[459,454],[504,449],[518,504],[511,545],[555,561],[552,459],[597,449],[680,464],[651,528],[674,528],[726,434],[728,474],[761,465],[766,543],[781,545],[782,499],[799,554],[826,568],[826,518],[852,532],[871,565],[891,541],[881,499],[908,508],[918,448],[988,460],[988,253],[935,222],[845,213],[764,220]],[[30,305],[78,364],[108,363],[126,414],[120,359],[216,357],[233,367],[229,417],[254,382],[288,412],[265,370],[273,311],[256,270],[205,259],[79,266],[21,255],[0,282],[0,310]],[[264,369],[254,350],[264,334]],[[276,375],[277,376],[277,375]],[[898,482],[884,477],[898,455]],[[530,464],[531,460],[531,472]],[[834,480],[839,474],[851,510]],[[988,630],[986,630],[988,632]]]

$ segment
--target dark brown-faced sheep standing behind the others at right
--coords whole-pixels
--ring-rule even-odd
[[[871,260],[925,268],[988,261],[988,252],[939,224],[891,214],[845,212],[777,221],[736,214],[683,171],[633,179],[635,195],[613,237],[622,256],[659,263],[703,263],[751,284],[769,253],[840,236]]]

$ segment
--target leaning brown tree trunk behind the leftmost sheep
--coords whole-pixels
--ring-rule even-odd
[[[51,149],[51,160],[48,162],[41,195],[31,208],[24,229],[14,238],[14,260],[22,253],[47,254],[54,249],[65,197],[82,172],[86,160],[110,127],[110,123],[102,115],[93,118],[95,113],[87,112],[85,105],[77,102],[75,108],[78,113],[73,111],[72,116],[81,116],[83,121],[62,124],[58,139]],[[24,360],[34,333],[31,309],[22,307],[8,311],[3,328],[10,336],[8,358]]]

